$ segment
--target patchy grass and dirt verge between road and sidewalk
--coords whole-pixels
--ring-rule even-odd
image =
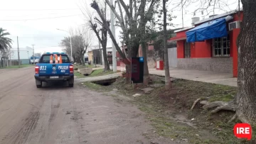
[[[162,84],[164,77],[153,76],[151,85]],[[164,86],[154,87],[149,94],[143,93],[140,86],[136,89],[131,84],[125,84],[125,78],[119,78],[109,89],[118,89],[128,96],[133,104],[146,112],[146,118],[156,128],[156,133],[174,140],[187,140],[189,143],[245,143],[233,135],[233,126],[238,121],[228,123],[233,116],[231,111],[220,111],[210,115],[203,110],[201,104],[191,106],[196,99],[208,101],[230,101],[237,93],[236,87],[205,82],[193,82],[176,79],[168,90]],[[141,96],[132,96],[133,94]]]

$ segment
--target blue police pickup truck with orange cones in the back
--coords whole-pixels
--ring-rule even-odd
[[[73,87],[73,64],[64,52],[46,52],[36,64],[35,79],[37,88],[42,87],[42,82],[68,82]]]

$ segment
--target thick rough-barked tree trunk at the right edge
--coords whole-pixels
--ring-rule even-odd
[[[256,1],[241,0],[244,13],[238,36],[237,116],[246,123],[256,123]]]

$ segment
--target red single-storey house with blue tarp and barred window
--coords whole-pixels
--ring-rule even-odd
[[[229,19],[227,19],[227,17]],[[223,24],[220,21],[225,22]],[[238,48],[236,40],[240,33],[243,13],[230,11],[193,21],[190,28],[183,28],[171,41],[177,41],[177,67],[190,70],[233,73],[238,77]],[[216,23],[215,23],[216,22]],[[212,24],[213,23],[213,24]],[[210,25],[214,25],[210,28]],[[220,25],[223,31],[220,33]],[[191,32],[193,32],[191,34]],[[214,33],[218,33],[216,36]],[[224,35],[224,36],[223,36]]]

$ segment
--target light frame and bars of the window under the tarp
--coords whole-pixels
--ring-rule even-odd
[[[223,40],[224,38],[226,38],[226,40]],[[218,39],[218,38],[214,38],[212,39],[213,40],[213,45],[212,45],[212,50],[213,50],[213,57],[230,57],[230,54],[226,54],[224,55],[224,41],[226,41],[226,49],[230,49],[230,40],[228,40],[228,36],[227,37],[223,37],[223,38],[220,38],[220,55],[215,55],[215,39]],[[229,42],[229,47],[228,47],[228,42]],[[228,50],[227,50],[227,53],[228,53]]]

